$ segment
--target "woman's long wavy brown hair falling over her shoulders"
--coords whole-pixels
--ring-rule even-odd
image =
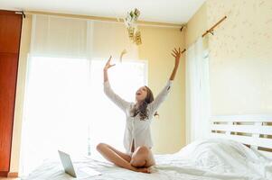
[[[138,108],[136,108],[136,105],[131,109],[132,117],[135,117],[137,114],[140,116],[140,120],[144,121],[150,117],[148,117],[148,110],[147,105],[148,103],[152,103],[154,101],[154,95],[149,87],[145,85],[146,91],[146,97],[145,100],[139,105]],[[159,114],[155,112],[154,116],[158,116]]]

